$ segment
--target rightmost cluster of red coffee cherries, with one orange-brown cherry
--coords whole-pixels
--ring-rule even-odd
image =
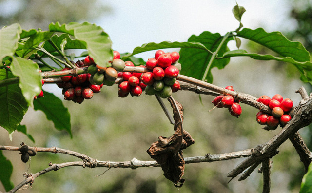
[[[293,105],[291,99],[284,99],[281,95],[276,94],[272,98],[263,95],[257,101],[269,106],[272,110],[272,115],[262,111],[257,113],[256,120],[260,125],[267,125],[270,130],[275,130],[279,124],[285,126],[292,119],[288,115]]]

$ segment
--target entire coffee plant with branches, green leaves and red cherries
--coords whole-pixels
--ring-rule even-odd
[[[55,128],[65,130],[70,135],[70,115],[62,100],[48,91],[42,90],[43,84],[57,84],[65,100],[75,103],[92,102],[94,95],[107,86],[118,87],[118,97],[156,96],[159,104],[174,125],[174,133],[169,137],[159,136],[151,141],[147,153],[155,161],[114,162],[100,161],[85,154],[56,147],[31,147],[23,142],[16,146],[0,145],[0,180],[5,191],[16,192],[24,185],[35,186],[34,179],[50,171],[69,166],[89,168],[132,168],[161,167],[164,176],[181,187],[185,180],[185,164],[213,162],[245,158],[227,174],[231,180],[241,174],[246,179],[260,164],[263,174],[263,192],[270,191],[270,159],[278,156],[278,148],[290,140],[303,162],[306,174],[301,184],[301,192],[308,193],[312,188],[312,153],[298,133],[298,130],[312,122],[312,95],[301,87],[296,91],[302,100],[293,104],[281,95],[254,97],[252,93],[235,91],[232,86],[225,88],[212,84],[211,70],[223,69],[232,57],[249,57],[256,60],[275,60],[291,63],[300,73],[303,82],[312,84],[312,63],[310,54],[300,42],[285,38],[280,32],[268,33],[262,28],[243,28],[241,17],[245,9],[236,5],[233,8],[239,27],[225,35],[203,32],[192,35],[187,42],[147,43],[134,48],[132,53],[113,51],[112,41],[103,29],[95,24],[51,23],[49,30],[23,30],[19,24],[12,24],[0,30],[0,126],[8,132],[12,140],[14,131],[27,134],[21,120],[28,108],[43,111],[47,119],[54,122]],[[249,53],[239,49],[240,39],[256,42],[277,54]],[[230,50],[228,42],[235,41],[236,50]],[[165,52],[167,48],[179,48],[179,52]],[[84,50],[79,56],[70,53],[73,49]],[[134,55],[155,51],[147,61]],[[47,62],[49,61],[49,62]],[[244,113],[244,105],[258,109],[255,116],[265,130],[280,131],[269,141],[255,148],[225,154],[206,154],[198,157],[183,157],[182,150],[195,143],[191,134],[183,128],[183,106],[174,99],[182,95],[179,90],[191,91],[200,95],[215,96],[212,101],[216,108],[227,108],[232,116]],[[103,91],[105,92],[105,91]],[[144,94],[145,93],[145,94]],[[164,105],[167,99],[172,107],[173,117]],[[220,109],[220,110],[222,110]],[[209,110],[209,109],[208,109]],[[208,111],[207,110],[207,111]],[[219,110],[211,109],[211,113]],[[161,135],[161,134],[159,134]],[[196,144],[192,147],[195,148]],[[37,154],[60,153],[78,157],[81,161],[49,163],[49,167],[37,173],[24,174],[25,180],[13,185],[10,181],[13,166],[2,151],[19,151],[21,162],[27,163]],[[17,153],[18,154],[18,153]],[[66,169],[65,169],[66,170]],[[48,174],[47,174],[48,175]],[[230,180],[230,181],[231,181]],[[186,185],[187,186],[187,182]]]

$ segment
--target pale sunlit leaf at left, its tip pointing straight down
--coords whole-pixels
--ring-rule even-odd
[[[11,71],[13,75],[20,77],[20,89],[28,105],[32,106],[34,97],[41,91],[39,66],[32,60],[14,57]]]

